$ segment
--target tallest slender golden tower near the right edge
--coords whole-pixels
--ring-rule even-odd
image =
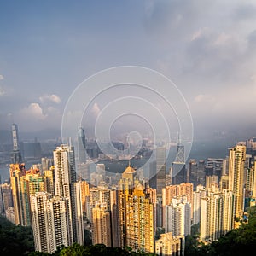
[[[229,190],[235,194],[235,215],[241,218],[244,212],[244,161],[246,146],[236,145],[230,148],[229,159]]]

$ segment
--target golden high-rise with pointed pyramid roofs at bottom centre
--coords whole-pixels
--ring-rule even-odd
[[[128,166],[119,181],[119,247],[154,252],[154,203],[146,195],[136,171]]]

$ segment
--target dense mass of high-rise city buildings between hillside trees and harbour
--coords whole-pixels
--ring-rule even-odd
[[[170,170],[167,148],[160,146],[146,177],[131,160],[119,167],[119,175],[110,175],[103,163],[89,164],[82,128],[79,155],[71,144],[60,144],[52,158],[26,168],[17,146],[17,125],[12,134],[12,163],[9,182],[0,184],[0,212],[16,225],[32,226],[39,252],[54,253],[77,242],[183,255],[192,226],[198,226],[201,242],[217,241],[241,224],[247,207],[256,201],[254,139],[229,148],[223,159],[188,163],[183,145],[177,143]],[[78,169],[80,161],[87,166],[86,178],[78,175],[85,170]],[[181,173],[168,179],[175,165],[182,166]]]

